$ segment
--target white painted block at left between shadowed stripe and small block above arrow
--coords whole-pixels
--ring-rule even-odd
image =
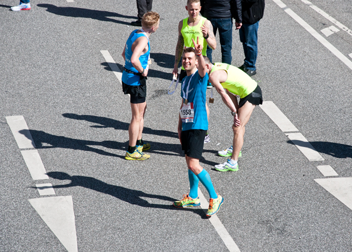
[[[34,180],[49,179],[37,150],[21,151],[21,154]]]

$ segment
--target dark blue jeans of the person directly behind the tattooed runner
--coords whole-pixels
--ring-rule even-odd
[[[213,25],[214,35],[216,30],[219,30],[220,45],[221,45],[221,62],[231,65],[232,55],[232,18],[210,18],[208,19]],[[207,47],[207,56],[212,60],[212,48]]]

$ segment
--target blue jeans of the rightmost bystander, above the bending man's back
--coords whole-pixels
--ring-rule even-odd
[[[246,69],[255,70],[256,56],[258,55],[258,27],[259,21],[255,24],[242,24],[239,29],[239,39],[242,42],[244,50],[244,64]]]

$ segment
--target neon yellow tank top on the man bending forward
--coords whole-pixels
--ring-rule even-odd
[[[221,86],[230,93],[239,95],[240,98],[249,95],[257,86],[257,83],[252,78],[234,66],[225,63],[215,63],[210,73],[217,70],[224,70],[227,73],[227,80],[222,82]]]

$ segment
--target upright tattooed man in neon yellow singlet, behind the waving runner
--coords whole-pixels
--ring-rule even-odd
[[[179,39],[175,51],[175,63],[172,74],[179,76],[180,82],[187,76],[185,69],[182,67],[180,75],[179,62],[185,47],[194,47],[192,39],[196,40],[199,37],[199,43],[203,45],[202,55],[207,55],[207,45],[215,50],[216,40],[213,32],[213,26],[209,20],[199,15],[201,11],[200,0],[187,0],[186,10],[188,11],[188,18],[185,18],[179,23]],[[211,88],[211,85],[209,85]],[[209,107],[206,104],[207,115],[209,120]],[[210,142],[209,134],[205,137],[205,143]]]

